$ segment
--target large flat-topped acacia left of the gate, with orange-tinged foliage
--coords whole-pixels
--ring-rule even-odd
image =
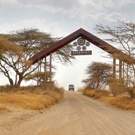
[[[40,32],[38,29],[24,29],[13,34],[0,35],[0,72],[8,79],[11,86],[20,86],[22,81],[38,69],[47,67],[44,60],[29,66],[26,62],[35,53],[48,48],[57,38]],[[62,48],[52,55],[53,59],[69,62],[71,46]],[[47,69],[47,68],[46,68]],[[40,71],[42,72],[42,71]]]

